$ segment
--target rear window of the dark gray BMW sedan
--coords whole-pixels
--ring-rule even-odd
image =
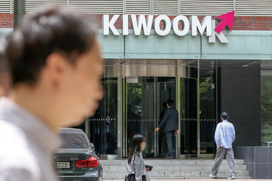
[[[61,147],[64,149],[85,149],[88,148],[87,140],[83,134],[78,133],[59,133],[62,139]]]

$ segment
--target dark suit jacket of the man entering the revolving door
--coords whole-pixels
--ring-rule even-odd
[[[165,125],[164,132],[177,131],[179,122],[178,116],[178,111],[173,107],[169,107],[165,110],[163,119],[158,127],[161,128]]]

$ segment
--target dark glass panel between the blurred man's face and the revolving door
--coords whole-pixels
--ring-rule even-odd
[[[89,120],[90,142],[96,154],[117,154],[117,78],[102,79],[104,98]]]

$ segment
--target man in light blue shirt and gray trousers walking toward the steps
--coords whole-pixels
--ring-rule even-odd
[[[212,174],[209,176],[212,178],[217,177],[218,169],[226,156],[229,169],[230,177],[229,180],[235,179],[234,173],[234,154],[232,150],[232,143],[235,140],[235,130],[233,124],[227,121],[229,115],[226,112],[221,113],[222,122],[218,123],[215,131],[215,142],[217,145],[217,152],[215,157],[214,166],[212,169]]]

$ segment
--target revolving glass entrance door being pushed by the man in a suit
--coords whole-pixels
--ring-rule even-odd
[[[123,151],[127,156],[135,134],[146,137],[144,157],[162,156],[166,152],[163,130],[154,132],[160,121],[163,102],[176,102],[175,78],[124,77],[123,78]]]

